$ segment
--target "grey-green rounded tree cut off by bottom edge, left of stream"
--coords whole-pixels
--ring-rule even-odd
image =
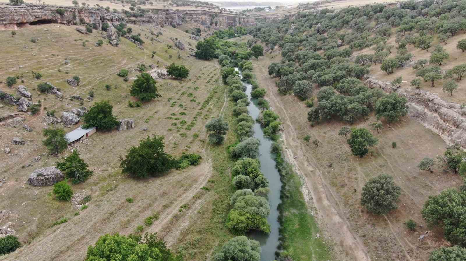
[[[259,261],[260,244],[246,236],[237,236],[226,242],[214,261]]]

